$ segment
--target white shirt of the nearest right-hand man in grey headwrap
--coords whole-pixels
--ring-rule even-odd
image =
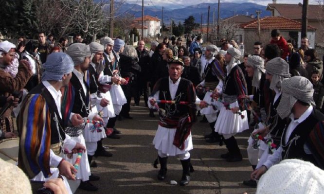
[[[307,110],[298,118],[295,120],[293,113],[291,113],[289,115],[289,118],[291,119],[291,122],[289,123],[288,127],[287,127],[287,132],[286,135],[284,137],[284,143],[287,144],[289,137],[291,135],[291,133],[294,131],[294,129],[296,128],[296,126],[299,123],[302,123],[303,121],[305,121],[307,119],[307,117],[309,117],[309,115],[312,113],[313,111],[313,106],[309,106],[307,108]],[[280,147],[272,154],[268,157],[267,161],[263,164],[264,166],[266,166],[268,169],[273,166],[274,164],[277,164],[280,162],[281,160],[281,152],[283,151],[283,147],[280,145]],[[304,151],[308,154],[309,149],[306,145],[304,145]]]

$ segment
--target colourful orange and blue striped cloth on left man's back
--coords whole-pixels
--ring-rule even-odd
[[[40,171],[51,175],[51,116],[45,98],[40,94],[28,95],[17,118],[19,129],[18,167],[29,178]]]

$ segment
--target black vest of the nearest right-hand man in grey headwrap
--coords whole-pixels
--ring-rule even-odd
[[[299,123],[296,128],[291,133],[288,142],[296,136],[299,136],[298,139],[290,143],[283,143],[287,133],[287,124],[286,129],[284,130],[281,138],[281,146],[283,147],[282,159],[302,159],[316,164],[313,155],[306,154],[304,151],[304,144],[309,137],[309,133],[313,130],[314,126],[319,122],[324,120],[324,115],[317,109],[313,109],[312,113],[306,118],[305,121]]]

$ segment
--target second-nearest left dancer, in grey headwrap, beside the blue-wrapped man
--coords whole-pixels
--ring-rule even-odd
[[[65,107],[70,108],[68,113],[67,111],[64,112],[65,114],[63,117],[66,124],[68,124],[68,120],[72,123],[73,120],[78,121],[87,119],[90,121],[103,122],[100,116],[90,110],[90,91],[88,83],[84,79],[84,73],[88,70],[90,65],[90,47],[83,43],[74,43],[67,50],[67,54],[71,56],[74,62],[74,69],[72,71],[70,85],[66,88],[68,92],[65,92],[63,96],[63,99],[67,99],[66,101],[63,100],[67,102]],[[69,95],[70,93],[72,93],[72,95]],[[79,117],[73,119],[75,114],[79,114]],[[91,127],[94,127],[92,122],[86,123],[83,129],[83,134],[85,135],[79,134],[78,136],[72,137],[72,139],[83,145],[86,145],[87,141],[87,150],[81,157],[80,167],[76,174],[76,178],[81,179],[79,188],[87,191],[97,191],[98,188],[92,185],[89,180],[99,180],[99,176],[91,175],[88,154],[93,156],[97,149],[97,142],[91,140],[91,138],[93,138],[91,133],[100,133],[101,131],[94,130],[91,132]],[[84,137],[86,137],[87,140],[85,140]],[[72,158],[69,155],[65,155],[65,159],[74,162],[77,159],[77,155],[73,155]]]

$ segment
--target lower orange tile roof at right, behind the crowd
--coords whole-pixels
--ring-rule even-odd
[[[258,29],[258,20],[243,23],[240,25],[243,29]],[[264,17],[260,19],[260,29],[279,29],[279,30],[302,30],[302,23],[285,17]],[[312,26],[307,27],[308,30],[316,30]]]

